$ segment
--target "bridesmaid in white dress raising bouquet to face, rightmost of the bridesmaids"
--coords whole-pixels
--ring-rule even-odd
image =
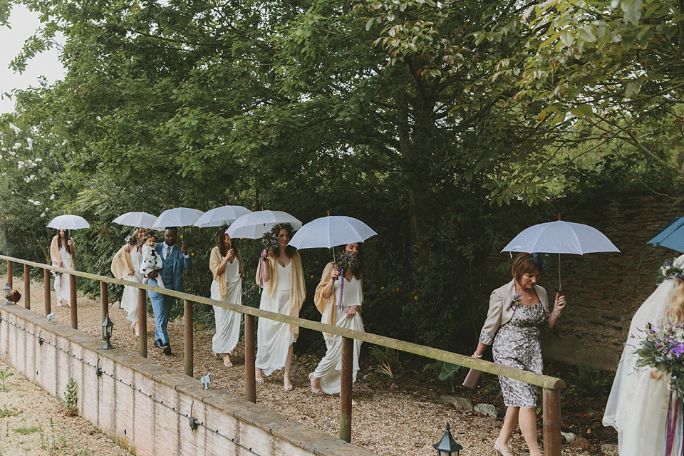
[[[353,257],[358,256],[358,244],[346,244],[344,252]],[[361,321],[361,305],[363,304],[363,276],[360,270],[346,269],[341,276],[339,269],[329,263],[323,270],[321,282],[316,286],[314,302],[316,309],[323,315],[321,323],[328,323],[341,328],[363,331]],[[342,287],[342,281],[344,286]],[[339,307],[342,297],[342,309]],[[326,356],[318,363],[316,371],[309,374],[311,390],[316,395],[323,393],[337,394],[341,389],[342,370],[342,336],[324,333],[326,340]],[[358,354],[361,351],[361,341],[354,340],[353,381],[356,381],[358,371]]]

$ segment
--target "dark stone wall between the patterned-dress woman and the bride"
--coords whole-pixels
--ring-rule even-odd
[[[564,363],[617,366],[631,318],[653,292],[655,274],[666,259],[680,255],[646,244],[682,204],[657,195],[606,197],[563,214],[569,222],[589,224],[611,239],[621,253],[561,255],[561,279],[568,308],[555,331],[544,333],[544,359]],[[549,295],[558,286],[558,255],[549,257]]]

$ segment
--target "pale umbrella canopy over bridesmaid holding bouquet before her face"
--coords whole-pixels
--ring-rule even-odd
[[[350,242],[363,242],[378,234],[359,219],[346,215],[321,217],[305,224],[289,245],[296,249],[331,248]]]

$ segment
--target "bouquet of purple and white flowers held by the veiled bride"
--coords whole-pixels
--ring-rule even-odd
[[[684,321],[668,323],[656,328],[646,325],[643,338],[636,354],[638,367],[651,366],[670,375],[670,386],[680,398],[684,398]]]

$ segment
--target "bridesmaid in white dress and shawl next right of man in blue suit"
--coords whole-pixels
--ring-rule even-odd
[[[212,299],[230,304],[242,304],[242,255],[234,240],[221,229],[216,239],[216,247],[209,254],[209,269],[214,274]],[[223,363],[232,368],[230,353],[240,337],[242,314],[214,306],[216,333],[212,338],[214,356],[223,354]]]

